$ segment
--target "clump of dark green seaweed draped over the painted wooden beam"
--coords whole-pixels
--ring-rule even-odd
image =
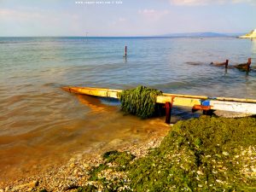
[[[123,90],[119,93],[121,110],[146,119],[154,116],[157,111],[156,97],[161,96],[162,91],[149,89],[145,86],[137,86],[135,89]]]

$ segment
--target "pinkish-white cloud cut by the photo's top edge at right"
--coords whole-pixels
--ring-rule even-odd
[[[198,6],[207,4],[224,4],[224,3],[249,3],[254,4],[256,0],[169,0],[172,4],[176,5],[188,5],[188,6]]]

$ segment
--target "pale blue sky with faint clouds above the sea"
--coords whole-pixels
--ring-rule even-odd
[[[101,3],[101,4],[98,4]],[[250,32],[256,0],[0,0],[0,36]]]

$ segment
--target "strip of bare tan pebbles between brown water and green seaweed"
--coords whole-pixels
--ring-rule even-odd
[[[117,148],[96,149],[93,154],[74,154],[74,156],[58,166],[50,166],[43,172],[36,172],[31,177],[21,177],[18,179],[0,183],[0,192],[7,191],[39,191],[47,189],[47,191],[72,191],[69,190],[72,186],[84,186],[89,177],[91,167],[99,166],[102,162],[102,154],[109,149],[129,151],[129,153],[141,158],[148,154],[149,148],[157,148],[171,126],[166,127],[160,132],[153,132],[152,137],[138,143],[119,144]],[[113,140],[113,143],[119,143],[118,139]]]

